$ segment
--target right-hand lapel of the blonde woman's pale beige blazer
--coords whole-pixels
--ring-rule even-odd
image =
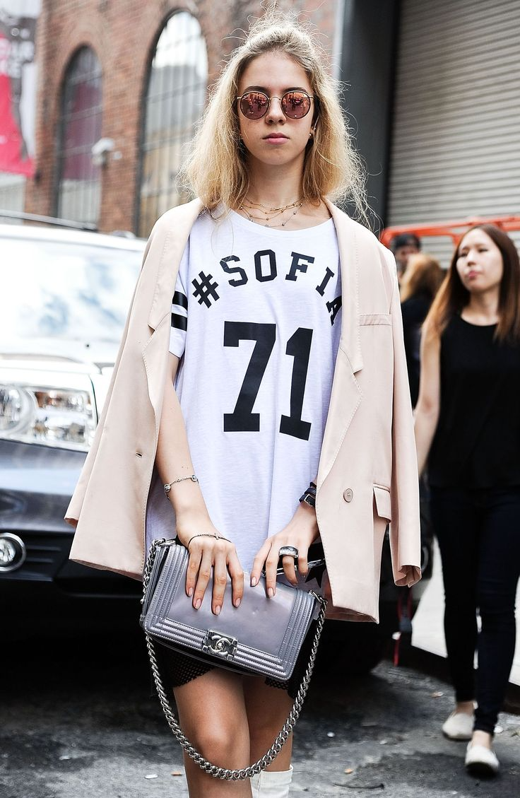
[[[335,205],[325,200],[336,226],[341,264],[341,339],[334,369],[329,414],[321,445],[317,474],[318,491],[329,474],[341,443],[361,401],[354,376],[363,368],[359,329],[359,252],[356,225]]]

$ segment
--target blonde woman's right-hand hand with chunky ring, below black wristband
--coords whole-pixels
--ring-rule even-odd
[[[262,568],[266,568],[266,590],[267,595],[272,598],[276,592],[276,570],[278,567],[278,552],[282,546],[293,546],[298,550],[298,572],[306,575],[307,567],[307,552],[313,540],[318,536],[316,511],[314,508],[309,507],[309,504],[302,502],[298,505],[296,512],[292,519],[282,531],[277,532],[276,535],[267,538],[262,548],[254,558],[253,568],[251,570],[251,585],[256,585]],[[283,571],[286,578],[294,586],[297,585],[297,576],[295,569],[295,560],[292,556],[286,555],[282,558]]]

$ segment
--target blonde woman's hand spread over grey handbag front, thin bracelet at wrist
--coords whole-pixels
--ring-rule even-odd
[[[234,544],[220,535],[207,516],[203,519],[178,518],[177,536],[190,555],[186,592],[192,597],[195,610],[198,610],[203,602],[207,584],[211,579],[211,568],[213,568],[211,611],[219,615],[222,610],[228,571],[231,578],[233,605],[238,607],[244,595],[244,573]]]

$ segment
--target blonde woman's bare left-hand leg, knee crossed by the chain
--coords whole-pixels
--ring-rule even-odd
[[[221,767],[246,768],[250,744],[242,677],[217,668],[174,692],[183,733],[203,757]],[[190,798],[251,798],[249,780],[215,779],[186,754],[184,765]]]

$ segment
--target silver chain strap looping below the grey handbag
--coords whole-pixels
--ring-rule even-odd
[[[150,581],[150,575],[152,573],[152,565],[153,561],[156,557],[156,550],[158,547],[163,546],[166,543],[166,539],[154,540],[152,546],[150,547],[150,551],[148,552],[148,559],[146,561],[146,566],[144,567],[143,573],[143,599],[144,602],[146,597],[146,591],[148,588],[148,583]],[[179,742],[183,750],[187,753],[188,757],[191,757],[192,760],[196,764],[199,765],[199,768],[202,768],[204,772],[207,772],[210,776],[214,776],[215,779],[227,779],[230,781],[239,781],[242,779],[250,779],[251,776],[254,776],[256,773],[265,770],[265,768],[271,764],[271,762],[278,757],[278,754],[281,752],[283,746],[286,744],[287,738],[289,737],[290,733],[293,731],[294,726],[296,725],[296,721],[301,713],[301,707],[303,706],[303,702],[305,701],[305,696],[307,694],[307,690],[309,689],[310,678],[313,674],[314,669],[314,662],[316,661],[316,654],[317,654],[317,646],[320,642],[321,630],[323,629],[323,624],[325,623],[325,608],[327,606],[327,602],[325,599],[310,591],[312,595],[317,599],[320,603],[320,611],[317,617],[317,626],[316,626],[316,634],[314,635],[313,645],[310,650],[309,654],[309,663],[307,665],[307,669],[305,670],[305,674],[301,679],[300,687],[298,688],[296,698],[294,699],[293,708],[290,710],[289,715],[287,716],[286,722],[282,726],[282,730],[278,733],[278,737],[274,741],[273,745],[271,745],[269,751],[267,751],[264,756],[259,759],[258,761],[251,764],[249,768],[240,768],[238,770],[231,770],[230,768],[220,768],[219,765],[213,764],[212,762],[208,761],[203,757],[201,753],[195,749],[195,746],[191,745],[191,742],[188,740],[186,735],[183,733],[183,730],[179,726],[179,722],[176,720],[173,710],[171,709],[170,702],[167,699],[166,691],[164,689],[163,681],[160,678],[159,667],[157,665],[156,659],[156,650],[153,645],[152,638],[149,634],[145,634],[146,637],[146,645],[148,648],[148,656],[150,658],[150,665],[152,666],[152,674],[153,679],[156,683],[156,690],[157,695],[159,696],[160,705],[163,708],[163,713],[166,717],[167,723],[174,734],[174,737]]]

